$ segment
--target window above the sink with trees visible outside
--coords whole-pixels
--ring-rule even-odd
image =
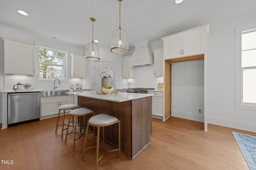
[[[66,80],[66,52],[39,47],[39,79]]]

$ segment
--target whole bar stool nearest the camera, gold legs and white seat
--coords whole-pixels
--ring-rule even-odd
[[[83,149],[83,154],[82,154],[82,160],[84,160],[84,151],[86,149],[90,149],[90,148],[96,148],[96,170],[98,170],[98,162],[101,160],[101,158],[103,157],[100,156],[100,158],[98,158],[99,156],[99,143],[100,143],[100,127],[103,127],[103,145],[104,145],[104,127],[106,126],[110,126],[113,125],[115,123],[118,123],[118,148],[117,149],[112,149],[112,150],[107,150],[102,148],[103,150],[109,151],[109,152],[114,152],[114,151],[119,151],[119,159],[121,157],[121,149],[120,149],[120,120],[118,120],[116,117],[107,115],[107,114],[98,114],[95,116],[92,116],[87,123],[87,129],[89,128],[89,125],[93,126],[93,127],[97,127],[97,146],[92,146],[92,147],[87,147],[86,146],[86,139],[87,139],[87,135],[88,135],[88,131],[86,131],[86,135],[85,135],[85,139],[84,139],[84,149]],[[94,134],[95,135],[95,134]]]

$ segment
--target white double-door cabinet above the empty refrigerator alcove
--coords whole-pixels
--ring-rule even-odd
[[[207,26],[203,25],[163,37],[164,59],[204,54]]]

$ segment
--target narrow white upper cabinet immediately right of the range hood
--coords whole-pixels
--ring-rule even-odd
[[[164,51],[163,48],[154,49],[154,76],[164,76]]]

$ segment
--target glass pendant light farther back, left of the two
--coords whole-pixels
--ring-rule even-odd
[[[86,46],[86,53],[85,53],[85,59],[89,61],[99,61],[100,60],[100,52],[99,52],[99,47],[97,44],[94,43],[93,40],[93,23],[95,18],[90,18],[92,21],[92,43],[89,43]]]

